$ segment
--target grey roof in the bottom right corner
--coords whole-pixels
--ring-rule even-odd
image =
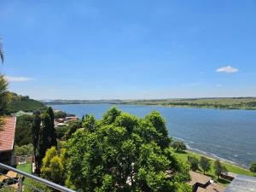
[[[238,175],[224,192],[255,192],[256,177]]]

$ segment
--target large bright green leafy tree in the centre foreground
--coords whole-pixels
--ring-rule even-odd
[[[86,119],[86,118],[85,118]],[[110,108],[67,141],[67,182],[81,191],[191,191],[189,166],[169,148],[160,113],[137,119]]]

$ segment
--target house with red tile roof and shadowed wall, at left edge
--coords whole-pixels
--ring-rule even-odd
[[[16,118],[4,118],[4,125],[0,131],[0,162],[8,166],[15,166],[15,129]]]

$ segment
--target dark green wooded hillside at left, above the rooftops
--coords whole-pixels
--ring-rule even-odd
[[[8,113],[16,113],[20,110],[32,112],[43,107],[43,102],[30,99],[29,96],[18,96],[17,94],[12,93],[12,101],[9,103]]]

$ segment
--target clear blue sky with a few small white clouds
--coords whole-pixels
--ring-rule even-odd
[[[34,99],[256,96],[254,0],[0,0],[0,72]]]

